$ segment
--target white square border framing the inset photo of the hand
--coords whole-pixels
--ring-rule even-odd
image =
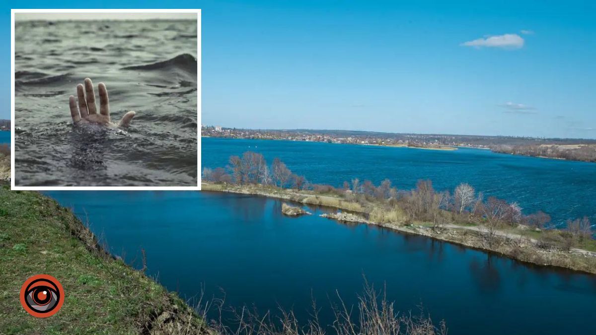
[[[16,186],[14,179],[14,14],[15,13],[195,13],[197,14],[197,186]],[[11,43],[10,43],[10,76],[11,76],[11,190],[34,191],[200,191],[201,190],[201,10],[200,9],[11,9]]]

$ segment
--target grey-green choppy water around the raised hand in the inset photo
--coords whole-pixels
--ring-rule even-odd
[[[196,21],[17,22],[15,184],[196,185],[196,52]],[[85,77],[126,131],[73,130]]]

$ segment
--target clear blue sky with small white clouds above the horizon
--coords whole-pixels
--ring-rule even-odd
[[[203,10],[204,125],[596,138],[590,1],[127,2],[164,5]]]

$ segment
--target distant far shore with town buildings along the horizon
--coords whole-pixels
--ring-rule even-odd
[[[397,134],[315,129],[240,129],[224,128],[222,126],[201,126],[201,136],[383,145],[434,150],[455,150],[458,147],[470,147],[524,156],[596,162],[596,139]]]

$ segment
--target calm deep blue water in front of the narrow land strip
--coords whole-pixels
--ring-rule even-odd
[[[312,296],[346,303],[362,275],[402,311],[422,303],[450,334],[595,334],[596,276],[527,266],[485,252],[315,215],[287,218],[277,200],[208,192],[49,192],[88,215],[117,255],[187,298],[207,296],[261,311],[293,308],[304,320]],[[330,320],[321,312],[323,322]]]

